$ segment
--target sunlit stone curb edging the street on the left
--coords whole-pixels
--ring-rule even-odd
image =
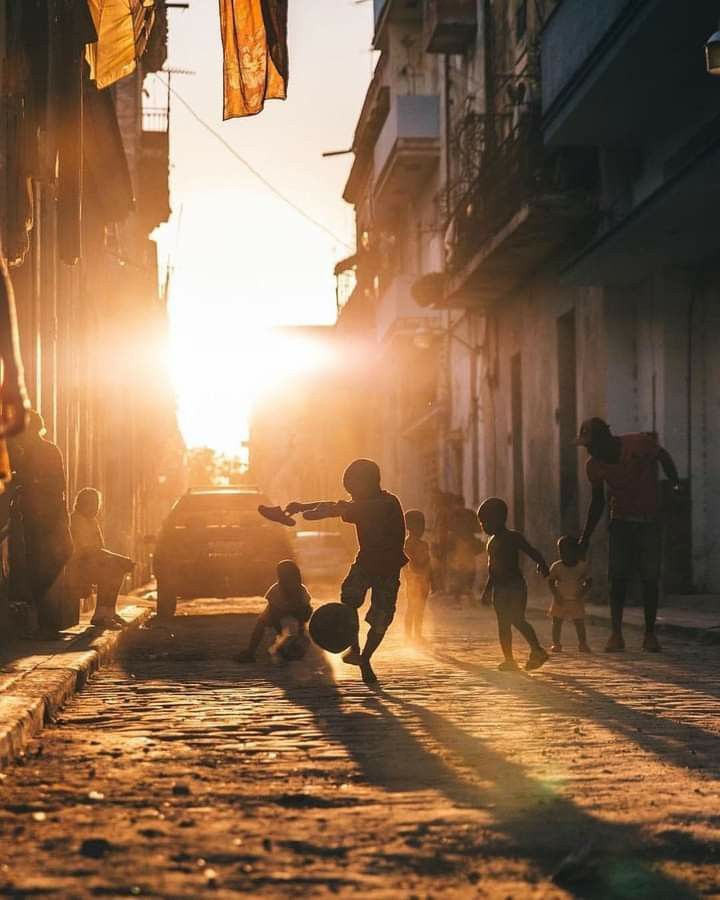
[[[127,629],[99,635],[88,650],[73,651],[71,645],[65,652],[53,654],[47,662],[20,675],[5,696],[0,692],[0,769],[22,754],[28,742],[115,656],[126,636],[150,614],[149,609],[140,611]]]

